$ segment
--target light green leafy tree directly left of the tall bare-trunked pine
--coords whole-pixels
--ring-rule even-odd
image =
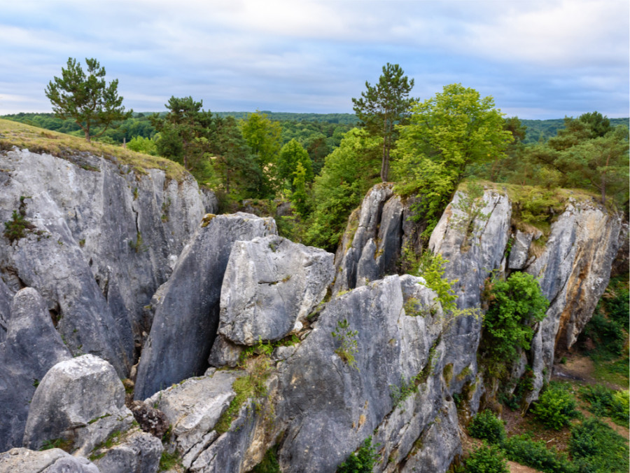
[[[380,153],[377,138],[354,129],[326,156],[313,186],[314,210],[304,235],[307,245],[335,251],[352,210],[378,181]]]

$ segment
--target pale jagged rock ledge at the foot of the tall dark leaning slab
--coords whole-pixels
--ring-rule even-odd
[[[181,453],[184,467],[190,467],[218,437],[214,426],[236,395],[232,383],[237,376],[232,371],[211,370],[208,376],[190,378],[146,399],[146,404],[155,404],[167,416],[171,444]]]

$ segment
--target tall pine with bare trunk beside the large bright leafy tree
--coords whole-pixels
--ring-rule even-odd
[[[381,180],[386,182],[389,177],[390,153],[398,135],[395,125],[406,123],[407,112],[413,99],[409,98],[414,86],[414,80],[409,81],[403,76],[404,71],[398,64],[383,66],[383,74],[379,83],[370,85],[365,81],[365,92],[361,92],[360,99],[352,99],[353,109],[363,127],[370,135],[383,139],[383,156],[381,160]]]

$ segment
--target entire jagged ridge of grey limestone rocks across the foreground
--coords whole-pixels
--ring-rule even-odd
[[[418,229],[391,184],[367,194],[333,266],[332,254],[278,237],[272,219],[202,219],[195,185],[156,186],[158,171],[137,176],[96,157],[85,170],[28,151],[0,158],[10,190],[1,217],[24,211],[35,226],[0,253],[1,399],[29,363],[41,376],[20,388],[31,401],[22,417],[3,414],[22,424],[0,440],[3,450],[64,441],[73,451],[13,448],[0,472],[64,471],[59,462],[155,472],[162,451],[186,472],[247,472],[268,451],[282,471],[333,472],[366,439],[374,471],[444,472],[461,452],[460,423],[491,391],[476,357],[486,278],[526,271],[552,301],[523,354],[535,399],[554,350],[574,343],[603,292],[622,229],[619,217],[574,200],[540,245],[542,235],[514,228],[505,193],[457,193],[430,239],[458,280],[458,307],[476,309],[452,317],[421,277],[395,274]],[[166,196],[176,213],[162,219]],[[20,342],[31,333],[52,355]],[[134,423],[143,405],[171,425],[162,441]]]

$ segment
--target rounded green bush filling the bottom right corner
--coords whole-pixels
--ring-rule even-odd
[[[580,473],[625,473],[629,470],[626,439],[596,418],[571,430],[569,452]]]

